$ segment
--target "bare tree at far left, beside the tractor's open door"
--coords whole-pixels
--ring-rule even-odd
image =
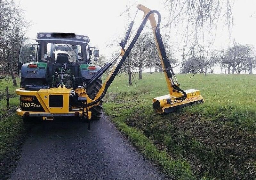
[[[14,86],[22,28],[26,25],[22,10],[12,0],[0,0],[0,67],[12,76]]]

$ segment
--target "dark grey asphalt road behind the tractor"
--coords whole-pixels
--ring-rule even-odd
[[[33,127],[12,179],[167,179],[103,115],[87,123],[59,119]]]

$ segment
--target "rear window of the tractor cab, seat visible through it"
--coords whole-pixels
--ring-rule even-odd
[[[44,60],[56,63],[76,63],[83,61],[80,45],[45,43]]]

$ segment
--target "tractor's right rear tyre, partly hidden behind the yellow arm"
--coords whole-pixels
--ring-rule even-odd
[[[90,87],[86,89],[87,95],[90,99],[94,99],[99,92],[100,88],[102,87],[102,80],[96,79]],[[100,100],[99,105],[93,106],[89,109],[92,112],[92,120],[99,120],[102,114],[102,100]]]

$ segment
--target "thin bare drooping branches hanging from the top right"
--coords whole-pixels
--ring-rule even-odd
[[[193,54],[193,49],[207,47],[206,39],[211,36],[214,41],[218,27],[227,26],[231,37],[233,15],[233,0],[166,0],[169,16],[164,27],[169,27],[166,35],[176,32],[179,41],[177,50],[181,50],[181,61]],[[205,38],[208,36],[207,38]],[[205,46],[203,40],[204,37]],[[167,38],[167,39],[168,39]],[[166,39],[166,38],[165,38]],[[212,45],[210,46],[212,47]],[[210,52],[210,51],[209,51]]]

